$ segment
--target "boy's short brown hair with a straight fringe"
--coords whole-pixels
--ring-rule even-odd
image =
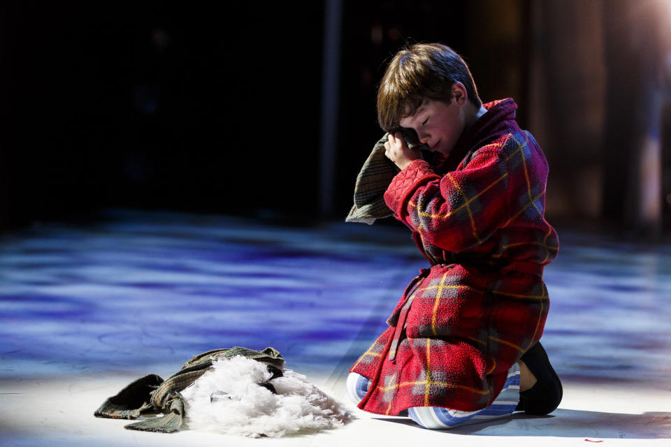
[[[414,114],[424,98],[449,103],[457,81],[466,87],[468,100],[479,108],[482,101],[468,65],[452,48],[440,43],[406,47],[391,59],[377,89],[377,122],[388,132]]]

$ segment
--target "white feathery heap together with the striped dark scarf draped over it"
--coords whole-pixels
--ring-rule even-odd
[[[156,374],[140,377],[94,413],[126,419],[152,415],[125,427],[280,437],[340,427],[352,418],[305,376],[284,368],[277,350],[238,346],[195,356],[166,381]]]

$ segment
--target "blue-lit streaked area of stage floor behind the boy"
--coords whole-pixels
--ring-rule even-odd
[[[543,343],[565,380],[671,383],[671,247],[561,232]],[[0,379],[170,374],[220,347],[347,369],[426,260],[403,228],[111,210],[0,244]]]

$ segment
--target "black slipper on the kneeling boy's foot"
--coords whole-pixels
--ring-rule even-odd
[[[519,404],[515,410],[539,416],[551,413],[559,406],[563,389],[543,346],[536,343],[519,360],[524,362],[535,376],[536,383],[528,390],[519,393]]]

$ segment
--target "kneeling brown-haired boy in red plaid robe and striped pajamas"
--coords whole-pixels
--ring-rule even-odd
[[[350,369],[359,408],[447,428],[515,409],[547,414],[561,383],[538,343],[549,305],[544,265],[558,249],[544,219],[547,162],[508,98],[482,104],[449,47],[391,60],[377,93],[385,155],[401,172],[384,200],[431,263]],[[417,133],[431,162],[409,149]]]

